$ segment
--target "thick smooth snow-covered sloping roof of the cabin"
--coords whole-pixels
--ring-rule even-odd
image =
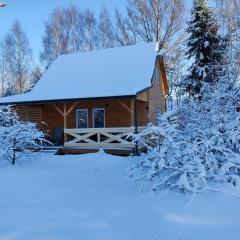
[[[31,92],[0,103],[135,95],[151,86],[155,58],[152,43],[63,55]]]

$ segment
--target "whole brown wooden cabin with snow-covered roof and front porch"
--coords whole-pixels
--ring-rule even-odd
[[[153,44],[60,56],[33,90],[0,98],[65,150],[134,148],[130,132],[156,124],[168,83]]]

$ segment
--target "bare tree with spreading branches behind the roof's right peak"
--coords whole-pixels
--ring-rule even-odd
[[[182,0],[128,0],[127,13],[138,39],[159,42],[160,49],[176,44],[183,32]]]

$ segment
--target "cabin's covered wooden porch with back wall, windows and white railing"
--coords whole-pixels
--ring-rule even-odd
[[[18,106],[26,121],[36,122],[60,153],[136,152],[131,133],[149,122],[144,99],[110,98]],[[140,127],[139,127],[140,126]],[[49,150],[49,149],[47,149]]]

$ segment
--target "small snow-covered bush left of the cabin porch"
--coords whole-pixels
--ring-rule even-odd
[[[0,107],[0,160],[6,159],[14,165],[43,143],[46,143],[44,133],[36,124],[20,121],[11,107]]]

